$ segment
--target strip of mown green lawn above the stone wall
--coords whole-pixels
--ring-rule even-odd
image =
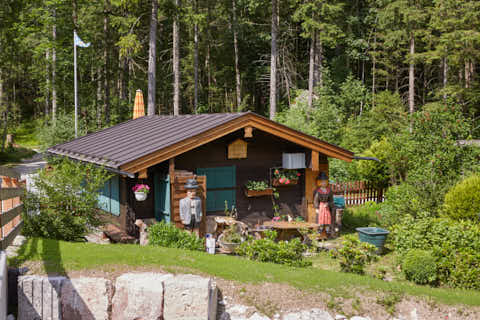
[[[157,266],[172,272],[187,269],[192,273],[209,274],[243,283],[285,283],[303,290],[327,292],[332,296],[349,297],[352,292],[367,290],[427,297],[444,304],[480,306],[478,291],[430,288],[401,281],[386,282],[371,276],[341,273],[315,266],[293,268],[235,256],[153,246],[29,239],[21,248],[19,256],[9,260],[9,264],[21,266],[27,261],[40,262],[49,274],[95,268],[108,270],[108,266],[118,265]]]

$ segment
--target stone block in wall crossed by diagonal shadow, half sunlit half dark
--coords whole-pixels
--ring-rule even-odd
[[[108,320],[113,287],[104,278],[67,279],[62,284],[62,319]]]

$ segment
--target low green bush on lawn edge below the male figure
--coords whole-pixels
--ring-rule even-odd
[[[148,227],[148,243],[153,246],[168,248],[204,250],[203,240],[195,234],[163,221]]]

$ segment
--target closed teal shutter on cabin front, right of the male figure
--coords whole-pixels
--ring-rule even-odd
[[[207,212],[223,211],[236,205],[235,166],[198,168],[197,175],[207,176]]]

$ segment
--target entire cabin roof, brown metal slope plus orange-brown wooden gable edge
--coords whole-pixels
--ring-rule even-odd
[[[163,155],[157,156],[157,154],[163,152],[162,149],[168,150],[169,147],[176,148],[178,145],[184,144],[190,146],[187,147],[191,149],[207,143],[215,137],[227,134],[227,131],[224,131],[225,126],[228,126],[229,132],[232,132],[245,124],[253,125],[260,130],[267,130],[292,142],[306,144],[312,150],[324,152],[329,156],[348,161],[353,159],[353,153],[348,150],[295,131],[252,112],[145,116],[58,144],[49,148],[47,152],[115,169],[128,168],[126,170],[128,172],[138,172],[137,167],[130,167],[133,166],[133,162],[146,161],[139,159],[152,158],[154,162],[155,160],[160,161],[163,159]],[[209,132],[213,132],[212,130],[220,133],[213,138],[207,138],[205,134],[209,135]],[[178,149],[180,150],[180,148]],[[179,150],[177,153],[182,152]]]

